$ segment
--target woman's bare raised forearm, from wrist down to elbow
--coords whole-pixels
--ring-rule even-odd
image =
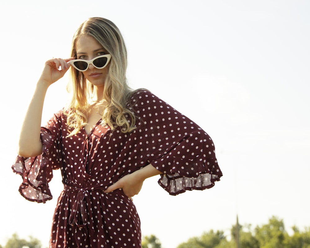
[[[42,153],[40,127],[43,103],[48,86],[48,83],[42,80],[38,81],[24,117],[17,148],[17,153],[22,157],[34,157]]]

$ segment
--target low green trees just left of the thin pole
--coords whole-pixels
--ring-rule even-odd
[[[226,241],[224,232],[210,230],[204,232],[200,237],[188,239],[187,242],[180,244],[177,248],[215,248],[221,241]]]

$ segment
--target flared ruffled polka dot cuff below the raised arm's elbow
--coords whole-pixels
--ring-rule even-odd
[[[45,128],[41,128],[42,154],[36,157],[17,156],[12,170],[23,179],[19,192],[28,201],[45,203],[52,199],[48,183],[53,177],[52,169],[57,169],[57,165],[50,159],[50,148],[54,144],[54,139],[48,134]],[[55,154],[54,154],[55,156]]]

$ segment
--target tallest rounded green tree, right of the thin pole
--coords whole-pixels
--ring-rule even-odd
[[[283,220],[272,216],[268,224],[255,228],[255,238],[260,248],[286,248],[284,240],[288,238],[288,234]]]

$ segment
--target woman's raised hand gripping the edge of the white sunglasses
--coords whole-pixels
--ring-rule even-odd
[[[48,86],[56,82],[64,76],[68,71],[71,64],[68,63],[70,60],[73,60],[74,57],[69,59],[50,59],[45,62],[44,69],[42,71],[39,81],[46,82]]]

